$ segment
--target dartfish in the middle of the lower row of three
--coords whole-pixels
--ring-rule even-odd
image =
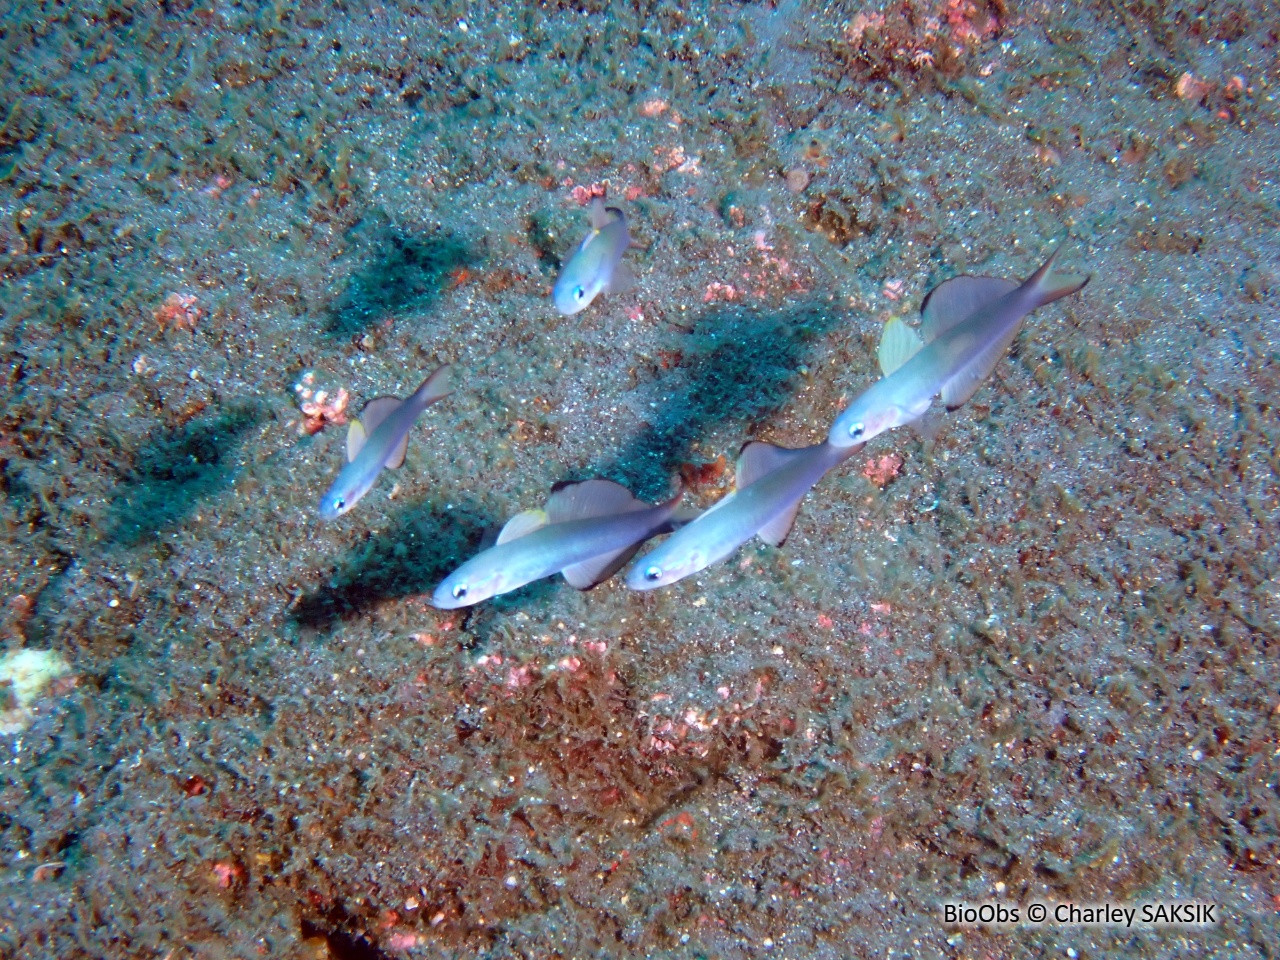
[[[627,586],[653,590],[673,584],[718,563],[753,536],[781,545],[804,495],[859,449],[831,443],[800,449],[746,444],[737,458],[736,492],[636,561],[627,573]]]

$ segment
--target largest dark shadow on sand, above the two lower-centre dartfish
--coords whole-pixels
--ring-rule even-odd
[[[671,495],[671,479],[692,445],[723,425],[739,425],[741,443],[751,439],[794,396],[799,367],[844,321],[844,312],[827,301],[778,311],[708,311],[664,347],[654,378],[636,388],[644,402],[657,404],[645,429],[602,460],[595,475],[618,480],[641,499]],[[737,447],[721,453],[732,462]]]

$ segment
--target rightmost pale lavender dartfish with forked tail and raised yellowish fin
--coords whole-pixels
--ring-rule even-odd
[[[1053,273],[1056,259],[1057,250],[1021,284],[995,276],[943,280],[920,305],[919,334],[897,319],[884,324],[879,346],[884,376],[836,417],[828,443],[867,443],[919,420],[938,394],[947,410],[968,401],[991,376],[1028,314],[1089,282],[1088,275]]]

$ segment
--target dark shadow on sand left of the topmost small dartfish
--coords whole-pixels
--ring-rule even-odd
[[[411,233],[381,210],[362,218],[344,239],[364,262],[329,310],[325,333],[333,337],[351,337],[390,314],[428,308],[456,271],[484,259],[444,227]]]

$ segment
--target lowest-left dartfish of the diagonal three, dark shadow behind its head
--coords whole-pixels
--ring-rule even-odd
[[[559,485],[543,509],[517,513],[497,544],[445,577],[431,603],[440,609],[470,607],[556,573],[588,590],[621,570],[650,536],[678,522],[680,497],[677,492],[650,507],[612,480]]]

